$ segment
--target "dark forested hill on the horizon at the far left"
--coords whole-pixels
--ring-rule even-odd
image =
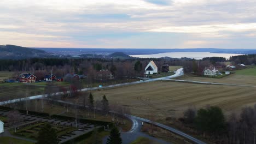
[[[36,50],[16,45],[0,45],[1,59],[22,59],[32,57],[46,58],[50,57],[50,54],[43,50]]]

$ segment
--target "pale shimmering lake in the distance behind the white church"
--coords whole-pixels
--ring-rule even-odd
[[[229,59],[231,56],[238,56],[241,54],[234,54],[234,53],[211,53],[211,52],[165,52],[165,53],[158,53],[152,55],[130,55],[131,57],[139,57],[139,58],[160,58],[160,57],[172,57],[172,58],[195,58],[195,59],[202,59],[204,57],[225,57]]]

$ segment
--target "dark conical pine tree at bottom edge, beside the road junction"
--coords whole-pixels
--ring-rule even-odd
[[[121,139],[120,132],[117,127],[114,127],[110,131],[110,135],[107,139],[107,144],[121,144],[123,140]]]

